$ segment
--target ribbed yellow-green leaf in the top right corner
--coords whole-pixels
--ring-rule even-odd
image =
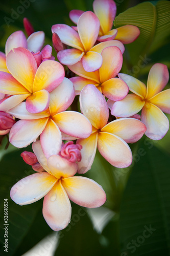
[[[138,4],[120,13],[114,20],[114,26],[134,25],[140,29],[139,37],[127,45],[133,63],[145,54],[151,53],[169,40],[170,2],[159,1],[156,6],[150,2]]]

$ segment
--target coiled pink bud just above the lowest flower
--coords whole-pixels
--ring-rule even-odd
[[[81,149],[82,149],[82,145],[80,144],[74,145],[73,141],[68,141],[61,148],[59,155],[67,159],[71,163],[80,162],[82,160],[82,155],[80,152]]]

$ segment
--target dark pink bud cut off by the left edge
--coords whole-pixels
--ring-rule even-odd
[[[0,131],[11,129],[14,123],[15,120],[10,114],[0,111]]]

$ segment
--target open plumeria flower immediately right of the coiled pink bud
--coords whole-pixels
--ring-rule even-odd
[[[97,147],[113,166],[129,166],[132,163],[132,152],[127,143],[138,141],[146,131],[145,125],[134,118],[120,118],[107,123],[107,102],[93,84],[88,84],[81,91],[80,108],[92,124],[92,134],[87,139],[77,140],[83,146],[78,173],[86,173],[91,168]]]

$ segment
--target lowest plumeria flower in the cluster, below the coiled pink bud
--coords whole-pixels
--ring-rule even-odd
[[[71,218],[71,204],[100,207],[106,201],[102,186],[85,177],[74,177],[78,165],[58,155],[46,159],[39,141],[33,143],[33,151],[46,172],[35,173],[18,181],[10,196],[19,205],[31,204],[44,197],[43,217],[55,231],[65,228]]]

